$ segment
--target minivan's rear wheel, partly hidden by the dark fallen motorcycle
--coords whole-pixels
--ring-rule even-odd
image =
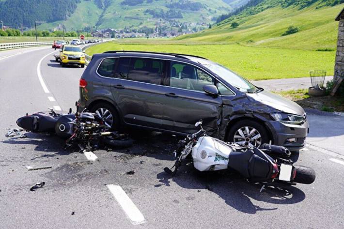
[[[90,110],[92,113],[95,113],[99,119],[101,119],[104,125],[108,126],[113,130],[119,129],[119,116],[114,107],[107,103],[98,103]]]

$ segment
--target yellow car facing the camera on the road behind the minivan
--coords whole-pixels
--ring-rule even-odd
[[[85,54],[78,46],[63,46],[60,49],[60,64],[64,67],[66,64],[78,64],[85,67]]]

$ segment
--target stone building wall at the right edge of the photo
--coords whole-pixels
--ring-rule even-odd
[[[336,17],[336,21],[339,21],[338,26],[338,41],[337,41],[337,53],[336,62],[334,66],[334,78],[344,78],[344,9]]]

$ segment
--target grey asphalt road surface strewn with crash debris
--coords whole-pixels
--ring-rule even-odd
[[[68,110],[78,100],[83,69],[60,67],[51,48],[21,51],[0,52],[1,229],[344,228],[344,158],[316,147],[316,141],[292,158],[315,169],[313,184],[268,187],[260,193],[260,186],[236,174],[199,173],[192,166],[171,178],[163,168],[172,166],[178,138],[169,135],[136,131],[131,148],[96,151],[96,161],[77,149],[63,150],[57,137],[4,137],[6,128],[15,128],[16,119],[26,112],[54,106]],[[317,127],[312,133],[319,119],[332,122],[331,117],[311,116],[311,136],[322,141],[335,136],[332,146],[344,142],[340,129],[322,132]],[[52,168],[29,171],[26,166]],[[135,173],[124,174],[130,170]],[[29,191],[39,182],[46,184]],[[122,187],[144,217],[141,224],[125,213],[131,203],[121,206],[125,198],[117,200],[109,184]]]

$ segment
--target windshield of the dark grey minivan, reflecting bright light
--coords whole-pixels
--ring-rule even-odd
[[[204,64],[204,66],[242,92],[254,93],[259,91],[259,89],[249,81],[220,64],[212,63]]]

